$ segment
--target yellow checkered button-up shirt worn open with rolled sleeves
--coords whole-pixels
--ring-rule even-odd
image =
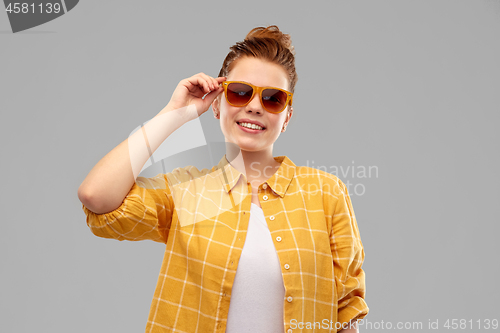
[[[347,188],[335,175],[274,159],[281,166],[258,197],[281,265],[285,332],[301,323],[300,331],[316,323],[337,332],[368,314],[364,250]],[[245,175],[224,155],[211,170],[137,177],[111,212],[82,205],[96,236],[166,244],[146,332],[225,332],[251,198]]]

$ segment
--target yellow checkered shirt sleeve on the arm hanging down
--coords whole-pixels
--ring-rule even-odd
[[[369,311],[364,299],[365,272],[362,265],[365,253],[349,193],[340,180],[336,194],[330,246],[337,288],[337,321],[339,325],[347,326],[349,321],[362,319]]]

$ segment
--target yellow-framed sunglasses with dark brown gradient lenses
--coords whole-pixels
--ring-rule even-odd
[[[255,94],[260,95],[260,104],[271,113],[282,112],[287,104],[292,106],[293,94],[289,91],[274,87],[257,87],[243,81],[222,82],[227,102],[232,106],[245,106]]]

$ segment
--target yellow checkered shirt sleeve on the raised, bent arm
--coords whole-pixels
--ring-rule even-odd
[[[115,210],[96,214],[82,204],[90,231],[119,241],[152,240],[166,243],[174,203],[165,174],[137,177],[122,204]]]

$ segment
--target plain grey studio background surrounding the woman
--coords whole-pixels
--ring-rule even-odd
[[[216,76],[270,24],[299,75],[274,156],[378,170],[337,174],[364,189],[366,320],[500,319],[499,1],[87,0],[18,34],[0,13],[1,331],[144,331],[164,246],[95,237],[78,186],[181,79]],[[200,121],[224,141],[211,109]]]

